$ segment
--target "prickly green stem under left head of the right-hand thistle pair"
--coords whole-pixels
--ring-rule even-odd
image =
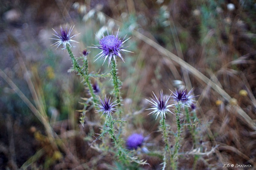
[[[164,117],[160,118],[160,127],[161,127],[162,132],[163,132],[164,144],[165,144],[165,147],[164,147],[164,164],[167,166],[167,168],[170,169],[171,161],[167,162],[166,158],[171,159],[171,150],[170,150],[170,144],[169,144],[169,139],[168,139],[168,129],[167,129],[167,126],[165,124],[165,118]]]

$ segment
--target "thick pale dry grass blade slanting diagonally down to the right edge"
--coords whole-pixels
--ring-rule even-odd
[[[230,100],[231,97],[229,96],[229,94],[227,92],[225,92],[220,86],[216,85],[212,80],[210,80],[209,78],[207,78],[204,74],[202,74],[200,71],[196,70],[196,68],[194,68],[193,66],[191,66],[190,64],[188,64],[187,62],[185,62],[184,60],[180,59],[177,55],[174,55],[172,52],[168,51],[167,49],[165,49],[164,47],[160,46],[159,44],[157,44],[156,42],[152,41],[151,39],[149,39],[148,37],[146,37],[145,35],[137,32],[137,31],[133,31],[133,34],[138,37],[140,40],[148,43],[150,46],[152,46],[153,48],[156,48],[160,53],[162,53],[163,55],[166,55],[167,57],[169,57],[171,60],[177,62],[182,68],[187,69],[190,73],[192,73],[196,78],[204,81],[204,83],[210,85],[212,87],[213,90],[215,90],[216,92],[218,92],[224,99],[226,100]],[[242,120],[253,130],[256,130],[256,124],[253,122],[253,120],[244,112],[244,110],[237,106],[237,113],[243,118]]]

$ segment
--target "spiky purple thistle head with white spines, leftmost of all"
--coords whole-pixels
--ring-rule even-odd
[[[59,33],[57,33],[53,28],[53,31],[56,33],[56,34],[53,34],[53,35],[55,35],[56,37],[58,37],[58,39],[56,39],[56,38],[50,38],[50,39],[53,39],[53,40],[58,40],[57,42],[55,42],[54,44],[52,44],[52,45],[54,45],[54,46],[57,46],[58,45],[58,47],[61,45],[61,44],[63,44],[63,48],[62,49],[65,49],[66,48],[66,45],[68,44],[68,45],[70,45],[70,42],[77,42],[77,41],[74,41],[74,40],[72,40],[72,38],[73,37],[76,37],[78,34],[76,34],[76,35],[74,35],[75,33],[73,33],[72,35],[71,35],[71,32],[72,32],[72,30],[73,30],[73,28],[74,28],[74,26],[72,27],[70,27],[70,29],[69,29],[69,31],[68,31],[68,24],[67,24],[67,26],[66,26],[66,29],[63,29],[62,28],[62,26],[60,25],[60,34]],[[78,42],[77,42],[78,43]],[[71,45],[70,45],[71,46]],[[57,47],[57,48],[58,48]],[[72,47],[72,46],[71,46]],[[56,48],[56,49],[57,49]]]

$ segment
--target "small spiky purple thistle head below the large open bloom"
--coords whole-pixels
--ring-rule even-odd
[[[100,97],[99,97],[100,98]],[[97,107],[99,107],[100,109],[99,110],[96,110],[96,113],[98,112],[103,112],[102,115],[104,115],[105,113],[108,114],[108,116],[110,116],[110,113],[113,113],[113,111],[116,111],[117,109],[114,108],[114,106],[118,105],[119,103],[117,104],[114,104],[116,101],[112,102],[113,99],[111,100],[111,97],[109,99],[106,98],[106,94],[105,94],[105,98],[104,98],[104,101],[102,101],[100,99],[100,104],[97,104],[97,103],[94,103],[95,105],[97,105]]]

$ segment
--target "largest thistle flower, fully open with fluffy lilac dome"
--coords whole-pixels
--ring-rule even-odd
[[[120,38],[118,38],[118,31],[116,36],[113,34],[112,35],[108,34],[107,36],[104,36],[102,34],[103,38],[101,40],[97,37],[100,41],[100,45],[98,45],[99,47],[96,46],[92,48],[100,48],[102,51],[98,54],[100,56],[96,60],[98,60],[100,57],[101,59],[104,58],[104,62],[103,62],[104,64],[106,59],[108,58],[108,66],[111,63],[112,58],[116,61],[116,56],[119,56],[124,61],[124,58],[120,54],[120,51],[127,51],[127,50],[124,50],[124,48],[127,48],[127,47],[124,47],[123,44],[125,41],[129,40],[129,38],[125,41],[124,39],[121,40]],[[131,52],[131,51],[127,51],[127,52]],[[96,55],[95,57],[97,57],[98,55]]]

